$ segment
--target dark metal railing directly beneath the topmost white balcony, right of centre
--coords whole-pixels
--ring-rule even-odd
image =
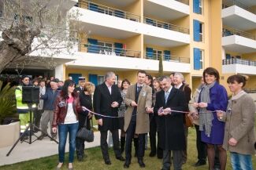
[[[165,22],[162,22],[162,21],[159,21],[159,20],[154,20],[154,19],[151,19],[151,18],[148,18],[148,17],[144,17],[143,22],[145,24],[149,24],[149,25],[152,25],[154,27],[161,27],[161,28],[164,28],[164,29],[167,29],[167,30],[178,31],[178,32],[181,32],[181,33],[184,33],[184,34],[189,34],[189,29],[188,28],[176,26],[176,25],[169,24],[169,23],[165,23]]]

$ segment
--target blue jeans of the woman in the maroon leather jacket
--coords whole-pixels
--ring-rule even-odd
[[[69,163],[74,161],[74,153],[76,148],[76,132],[78,129],[78,122],[72,124],[58,125],[58,159],[59,162],[64,162],[65,158],[65,144],[69,132]]]

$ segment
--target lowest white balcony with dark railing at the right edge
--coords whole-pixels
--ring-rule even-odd
[[[256,75],[256,61],[243,59],[222,60],[224,74],[252,74]]]

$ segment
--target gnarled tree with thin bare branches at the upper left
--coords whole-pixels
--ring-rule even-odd
[[[72,53],[78,45],[70,21],[79,13],[68,13],[68,0],[0,0],[0,73],[6,67],[49,63],[61,52]],[[69,6],[70,8],[66,8]],[[40,57],[39,57],[40,56]],[[50,57],[50,58],[49,58]],[[48,62],[50,60],[50,62]]]

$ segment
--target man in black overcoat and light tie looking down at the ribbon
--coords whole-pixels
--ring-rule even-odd
[[[185,134],[183,114],[172,110],[186,109],[184,92],[171,85],[168,76],[160,78],[161,92],[157,93],[154,113],[159,115],[159,146],[163,152],[162,170],[171,167],[171,152],[173,153],[173,167],[182,167],[182,150],[185,149]]]

